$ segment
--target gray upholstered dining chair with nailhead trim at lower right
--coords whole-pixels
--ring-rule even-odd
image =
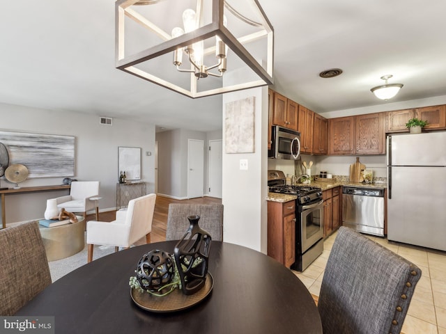
[[[318,300],[323,333],[400,333],[420,277],[415,264],[339,228]]]

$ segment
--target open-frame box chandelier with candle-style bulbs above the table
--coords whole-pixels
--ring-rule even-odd
[[[116,1],[116,68],[188,97],[272,84],[273,46],[257,0]]]

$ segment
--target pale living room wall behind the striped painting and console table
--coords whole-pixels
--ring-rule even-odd
[[[155,125],[114,118],[113,126],[100,125],[99,116],[70,111],[35,109],[0,104],[1,130],[34,134],[75,136],[75,178],[100,181],[100,211],[116,207],[118,182],[118,146],[141,148],[141,180],[147,182],[147,193],[154,189]],[[62,184],[63,177],[29,179],[20,186]],[[13,187],[4,177],[0,186]],[[67,191],[20,193],[6,196],[6,222],[42,218],[46,199]]]

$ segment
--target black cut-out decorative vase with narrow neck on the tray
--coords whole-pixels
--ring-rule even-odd
[[[180,275],[183,294],[194,294],[204,286],[208,273],[210,241],[212,238],[202,230],[200,216],[188,216],[190,226],[174,249],[176,267]]]

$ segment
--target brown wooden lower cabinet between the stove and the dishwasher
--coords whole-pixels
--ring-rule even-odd
[[[341,187],[337,186],[322,192],[323,236],[328,237],[341,225]]]

